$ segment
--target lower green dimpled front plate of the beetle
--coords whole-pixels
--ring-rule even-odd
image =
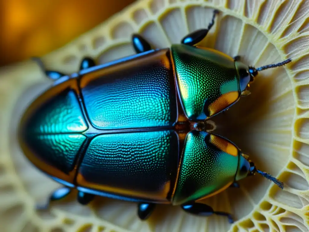
[[[234,181],[238,153],[225,153],[218,148],[223,145],[217,136],[206,132],[188,133],[173,204],[199,199]]]

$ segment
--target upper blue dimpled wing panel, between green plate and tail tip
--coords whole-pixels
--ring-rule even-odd
[[[155,52],[89,80],[82,94],[94,127],[162,127],[176,122],[174,77],[165,54]],[[83,79],[87,81],[87,75]]]

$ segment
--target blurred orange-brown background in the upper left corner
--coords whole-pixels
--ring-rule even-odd
[[[135,0],[0,0],[0,66],[42,56]]]

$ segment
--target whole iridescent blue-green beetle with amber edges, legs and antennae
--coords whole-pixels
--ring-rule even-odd
[[[142,220],[155,204],[172,204],[232,223],[199,200],[256,173],[283,188],[207,120],[247,95],[258,71],[291,59],[255,68],[196,46],[217,14],[171,48],[152,49],[134,34],[135,55],[97,66],[86,57],[71,75],[44,70],[54,84],[28,106],[18,137],[29,161],[64,185],[49,202],[76,188],[81,204],[95,195],[135,201]]]

